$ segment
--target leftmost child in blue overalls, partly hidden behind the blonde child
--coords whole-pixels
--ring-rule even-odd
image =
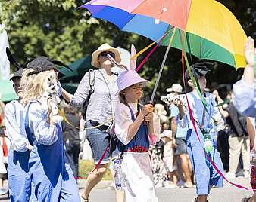
[[[23,133],[23,89],[20,87],[20,78],[23,69],[18,69],[11,77],[17,100],[5,106],[6,134],[11,139],[11,149],[8,152],[8,181],[11,201],[29,201],[31,194],[31,179],[28,169],[28,159],[31,145]]]

